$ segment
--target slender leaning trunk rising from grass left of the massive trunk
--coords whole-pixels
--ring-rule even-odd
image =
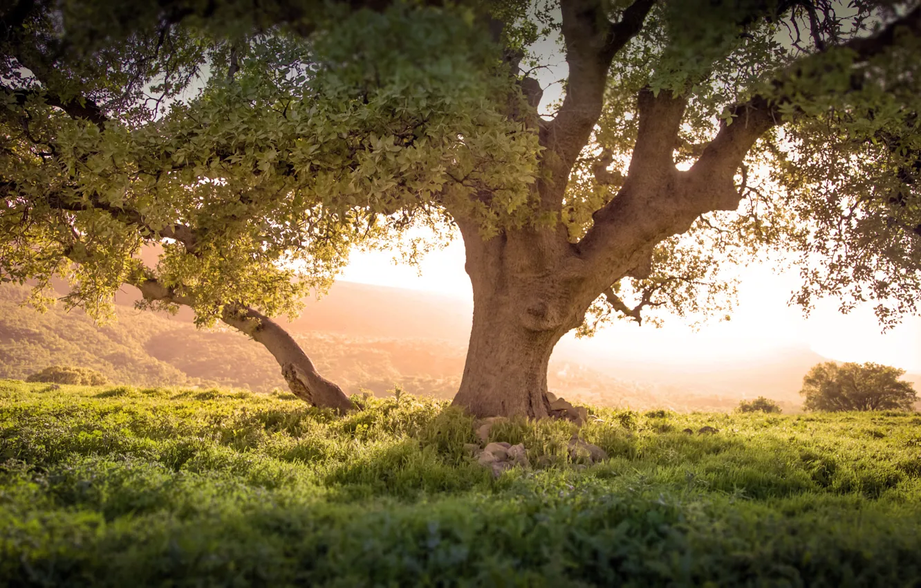
[[[288,388],[313,406],[344,412],[352,402],[342,388],[322,377],[297,341],[278,323],[252,309],[228,310],[222,320],[250,335],[274,356]]]

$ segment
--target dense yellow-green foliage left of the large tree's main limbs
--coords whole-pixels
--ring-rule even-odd
[[[5,41],[0,268],[40,290],[67,276],[69,304],[94,316],[122,283],[168,288],[144,304],[186,304],[203,324],[228,305],[295,312],[351,246],[413,218],[389,215],[482,186],[507,211],[533,175],[534,137],[490,107],[494,53],[463,11],[330,5],[309,40],[142,13],[102,47],[80,36],[93,13],[39,12]],[[77,40],[90,45],[47,46]],[[162,253],[141,264],[151,244]]]

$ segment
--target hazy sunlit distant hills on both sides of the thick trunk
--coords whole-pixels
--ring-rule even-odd
[[[187,310],[176,316],[137,311],[129,288],[117,298],[118,321],[102,326],[60,305],[44,314],[23,308],[26,293],[0,287],[0,378],[22,379],[62,364],[145,386],[285,387],[272,356],[245,335],[196,330]],[[339,282],[321,300],[307,300],[288,328],[321,372],[350,393],[385,394],[400,385],[449,398],[460,383],[471,316],[469,303],[447,296]],[[554,354],[549,382],[558,394],[599,405],[720,410],[765,395],[789,411],[799,405],[803,375],[822,360],[809,349],[787,349],[745,365],[718,358],[642,363],[564,344]],[[921,391],[921,377],[914,378]]]

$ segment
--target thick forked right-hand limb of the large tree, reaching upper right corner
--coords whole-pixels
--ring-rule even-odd
[[[671,155],[674,145],[667,140],[677,136],[673,115],[681,99],[665,97],[664,92],[654,99],[641,95],[639,135],[624,186],[593,215],[594,226],[577,244],[589,272],[597,274],[592,277],[593,288],[598,288],[595,291],[603,291],[605,284],[626,275],[650,243],[684,232],[702,214],[739,206],[736,172],[755,141],[783,122],[780,107],[790,102],[785,90],[795,86],[800,74],[821,65],[819,60],[834,51],[854,52],[857,62],[867,61],[888,50],[904,31],[921,35],[921,7],[873,37],[832,45],[799,59],[776,76],[775,94],[755,96],[732,107],[731,122],[723,123],[689,171],[675,168]],[[669,100],[674,100],[674,109],[667,108]],[[643,128],[644,118],[649,130]]]

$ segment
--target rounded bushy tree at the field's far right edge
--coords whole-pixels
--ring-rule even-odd
[[[806,397],[806,410],[911,410],[917,394],[899,380],[904,373],[879,363],[826,361],[806,374],[799,394]]]

